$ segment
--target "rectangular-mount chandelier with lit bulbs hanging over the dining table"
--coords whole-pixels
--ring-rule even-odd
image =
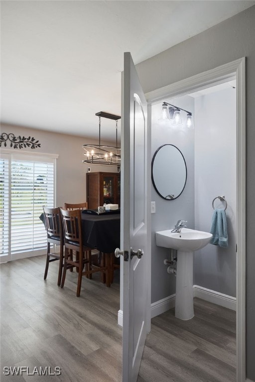
[[[105,111],[99,111],[95,115],[99,117],[99,142],[98,144],[83,145],[86,159],[82,163],[101,166],[121,166],[121,148],[117,145],[118,138],[118,119],[121,117],[115,114],[109,114]],[[101,118],[114,119],[116,121],[116,146],[101,145]]]

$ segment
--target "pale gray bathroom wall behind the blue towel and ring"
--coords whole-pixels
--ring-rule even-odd
[[[225,195],[228,248],[194,253],[194,284],[236,296],[236,91],[195,98],[195,228],[210,232],[212,200]],[[215,208],[224,208],[219,199]]]

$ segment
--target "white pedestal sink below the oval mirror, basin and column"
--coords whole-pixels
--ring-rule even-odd
[[[193,251],[205,247],[212,234],[195,229],[182,228],[181,232],[170,229],[156,232],[156,245],[172,248],[177,253],[175,317],[190,320],[193,307]]]

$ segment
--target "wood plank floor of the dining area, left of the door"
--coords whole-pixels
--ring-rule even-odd
[[[120,282],[110,288],[94,274],[83,277],[76,297],[77,274],[68,272],[57,286],[58,264],[51,263],[43,280],[45,256],[1,264],[1,381],[42,381],[42,376],[4,376],[3,366],[56,366],[61,375],[47,381],[120,382],[122,328],[118,326]]]

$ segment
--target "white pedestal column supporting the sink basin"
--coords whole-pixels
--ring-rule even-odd
[[[177,252],[175,317],[190,320],[193,305],[193,252]]]

